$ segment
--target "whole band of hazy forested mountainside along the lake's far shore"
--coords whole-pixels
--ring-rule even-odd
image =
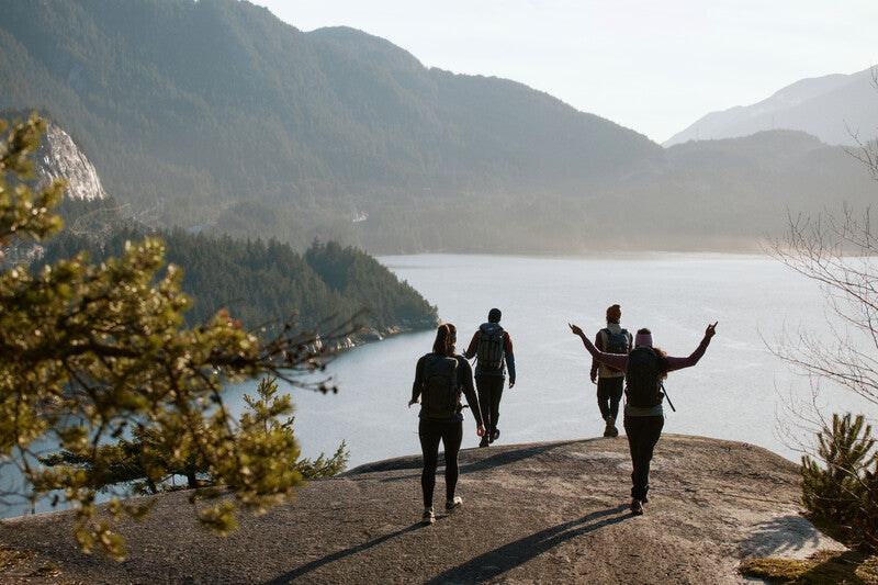
[[[351,29],[303,33],[246,1],[0,13],[0,109],[50,113],[106,191],[166,229],[300,254],[315,238],[372,254],[754,250],[787,211],[875,194],[849,154],[801,133],[665,150],[515,81],[428,69]]]

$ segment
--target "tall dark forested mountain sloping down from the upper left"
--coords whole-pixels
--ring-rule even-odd
[[[381,235],[399,205],[570,195],[661,156],[520,83],[427,69],[351,29],[306,34],[248,2],[0,0],[0,108],[50,112],[114,196],[167,225],[261,202],[308,235],[363,216]]]

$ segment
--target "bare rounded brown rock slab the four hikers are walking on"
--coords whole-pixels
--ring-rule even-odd
[[[643,516],[628,510],[624,437],[495,443],[460,461],[463,506],[438,506],[432,526],[419,524],[420,457],[311,482],[227,538],[196,527],[187,492],[156,496],[145,522],[120,526],[123,562],[80,553],[69,511],[2,520],[0,544],[35,556],[0,581],[701,585],[745,583],[743,559],[843,549],[801,516],[798,468],[745,443],[663,436]]]

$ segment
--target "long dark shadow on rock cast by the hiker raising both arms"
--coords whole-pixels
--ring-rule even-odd
[[[606,510],[593,511],[576,520],[547,528],[529,537],[504,544],[493,551],[480,554],[463,564],[436,575],[426,583],[440,585],[442,583],[482,583],[489,581],[527,563],[534,556],[539,556],[562,542],[621,522],[628,518],[632,518],[632,516],[628,514],[628,505],[626,504]]]

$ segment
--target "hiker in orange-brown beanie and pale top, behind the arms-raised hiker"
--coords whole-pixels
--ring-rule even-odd
[[[607,353],[628,353],[631,351],[633,339],[628,329],[622,329],[619,322],[622,318],[622,307],[612,305],[607,308],[607,326],[595,336],[595,347]],[[606,423],[605,437],[618,437],[616,417],[619,416],[619,401],[622,400],[622,383],[624,372],[592,359],[592,383],[597,384],[597,407],[600,418]]]

